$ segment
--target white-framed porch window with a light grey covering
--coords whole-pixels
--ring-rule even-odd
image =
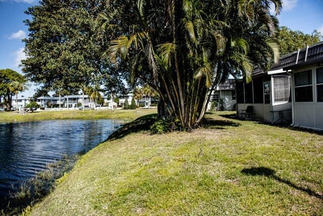
[[[290,101],[291,91],[291,78],[290,76],[277,76],[274,77],[274,96],[275,102]]]

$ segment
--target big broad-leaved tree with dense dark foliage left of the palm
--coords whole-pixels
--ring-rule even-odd
[[[22,61],[27,78],[40,85],[38,92],[75,94],[88,85],[114,80],[122,74],[109,70],[102,56],[104,39],[95,29],[103,0],[43,0],[28,8],[30,32]]]

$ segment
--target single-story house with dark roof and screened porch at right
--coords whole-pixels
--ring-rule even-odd
[[[256,68],[252,81],[236,82],[237,115],[252,107],[250,118],[323,129],[323,42],[290,53],[269,71]]]

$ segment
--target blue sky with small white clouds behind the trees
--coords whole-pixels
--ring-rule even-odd
[[[323,0],[283,0],[280,25],[293,30],[312,33],[317,29],[323,35]],[[36,0],[0,0],[0,69],[11,68],[18,72],[20,60],[25,58],[22,38],[28,36],[23,20],[29,17],[24,11]],[[305,45],[304,45],[305,46]],[[35,87],[23,93],[32,96]]]

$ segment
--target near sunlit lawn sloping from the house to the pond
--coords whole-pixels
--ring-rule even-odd
[[[166,135],[145,131],[151,115],[126,124],[31,213],[322,215],[323,136],[228,116]]]

